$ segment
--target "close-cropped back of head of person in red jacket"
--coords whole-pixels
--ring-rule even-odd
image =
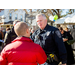
[[[25,22],[19,22],[14,26],[14,31],[17,36],[24,36],[26,34],[27,29],[28,25]]]

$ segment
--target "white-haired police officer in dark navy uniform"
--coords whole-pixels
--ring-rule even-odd
[[[38,14],[36,16],[36,21],[39,29],[33,33],[31,39],[34,43],[39,44],[44,49],[48,57],[51,57],[50,54],[55,54],[62,61],[62,64],[66,65],[66,48],[64,46],[60,31],[57,28],[47,24],[47,18],[44,14]],[[50,61],[49,59],[47,62],[51,65],[57,65],[58,61],[56,58],[54,60],[53,56],[54,55],[51,57],[52,60]]]

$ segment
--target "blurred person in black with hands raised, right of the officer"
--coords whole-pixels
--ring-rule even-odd
[[[63,42],[67,50],[67,64],[68,65],[74,64],[73,50],[72,50],[71,45],[68,44],[68,40],[72,40],[73,37],[70,35],[69,32],[64,31],[62,27],[59,27],[59,30],[62,34]]]

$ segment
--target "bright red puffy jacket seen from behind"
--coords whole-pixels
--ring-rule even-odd
[[[40,45],[27,37],[17,37],[0,55],[0,65],[37,65],[46,60],[47,56]]]

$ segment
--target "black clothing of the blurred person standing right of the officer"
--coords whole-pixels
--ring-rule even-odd
[[[62,34],[63,38],[67,38],[68,40],[73,40],[73,37],[70,35],[69,32],[65,32]],[[71,65],[74,64],[74,57],[73,57],[73,50],[71,45],[68,45],[67,41],[64,42],[66,50],[67,50],[67,64]]]

